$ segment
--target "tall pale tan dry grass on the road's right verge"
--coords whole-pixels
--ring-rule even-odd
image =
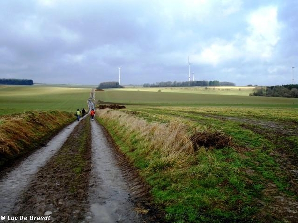
[[[166,124],[148,123],[144,119],[117,110],[105,109],[96,113],[103,119],[117,120],[122,129],[119,135],[128,140],[128,143],[138,140],[142,142],[144,153],[149,156],[159,154],[158,161],[151,163],[152,170],[181,168],[188,165],[188,157],[194,151],[193,144],[187,126],[178,120]]]

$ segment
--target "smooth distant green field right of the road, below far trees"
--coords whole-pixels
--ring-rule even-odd
[[[195,91],[194,88],[193,91]],[[221,88],[223,89],[223,88]],[[261,107],[293,107],[298,108],[297,98],[278,98],[278,97],[257,97],[249,96],[250,89],[245,95],[244,90],[234,91],[233,94],[227,94],[228,91],[216,91],[218,94],[200,94],[185,91],[184,89],[175,89],[173,91],[158,92],[156,88],[122,88],[107,89],[103,92],[97,92],[97,100],[112,103],[123,103],[129,105],[164,105],[164,106],[261,106]],[[202,90],[204,91],[204,90]]]

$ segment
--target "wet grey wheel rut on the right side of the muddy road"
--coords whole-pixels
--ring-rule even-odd
[[[102,127],[91,121],[92,170],[89,189],[90,215],[88,223],[141,223],[129,200],[129,187]]]

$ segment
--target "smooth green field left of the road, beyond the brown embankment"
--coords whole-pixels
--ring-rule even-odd
[[[75,112],[87,107],[91,89],[60,86],[0,85],[0,115],[24,111]]]

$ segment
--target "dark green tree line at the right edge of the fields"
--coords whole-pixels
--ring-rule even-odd
[[[251,96],[298,98],[298,84],[256,87]]]

